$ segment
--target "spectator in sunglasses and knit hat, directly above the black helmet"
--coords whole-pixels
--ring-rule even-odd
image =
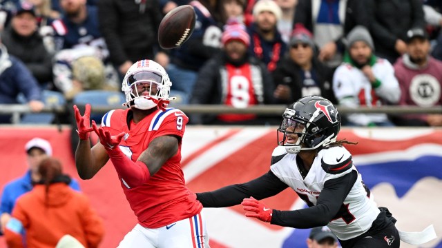
[[[304,96],[316,95],[336,103],[332,88],[333,70],[320,62],[309,30],[297,24],[289,42],[289,50],[273,72],[276,90],[273,96],[280,103],[294,103]]]

